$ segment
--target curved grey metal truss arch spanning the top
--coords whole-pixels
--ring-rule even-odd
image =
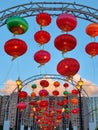
[[[6,20],[11,16],[31,17],[42,11],[49,13],[51,16],[71,13],[78,18],[98,22],[98,9],[76,4],[75,2],[30,2],[0,11],[0,27],[5,25]]]

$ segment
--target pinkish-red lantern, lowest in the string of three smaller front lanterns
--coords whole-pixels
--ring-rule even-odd
[[[34,54],[34,60],[39,63],[40,65],[44,65],[46,64],[51,58],[51,55],[48,51],[45,51],[45,50],[40,50],[40,51],[37,51],[35,54]]]

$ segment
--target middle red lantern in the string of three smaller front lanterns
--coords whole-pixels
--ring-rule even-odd
[[[44,45],[49,42],[50,34],[47,31],[40,30],[35,33],[34,40],[40,45]]]

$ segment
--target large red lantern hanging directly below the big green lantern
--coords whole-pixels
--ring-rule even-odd
[[[12,60],[14,60],[15,58],[26,53],[27,45],[23,40],[14,38],[5,43],[4,50],[8,55],[13,56]]]

